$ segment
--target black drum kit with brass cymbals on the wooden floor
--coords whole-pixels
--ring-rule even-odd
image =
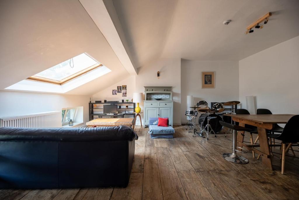
[[[215,103],[212,108],[208,106],[208,103],[206,101],[199,101],[195,106],[191,106],[193,110],[186,110],[185,115],[189,117],[189,121],[187,125],[189,126],[187,129],[189,129],[189,133],[193,132],[193,137],[197,134],[201,136],[202,138],[205,138],[204,134],[207,136],[207,140],[209,139],[209,134],[214,133],[214,136],[216,137],[216,133],[219,133],[223,126],[219,123],[219,121],[223,121],[223,111],[225,111],[224,106],[231,106],[231,113],[233,113],[234,105],[239,104],[239,101],[229,101],[226,103]],[[216,115],[215,113],[222,112],[222,118],[219,115]],[[198,118],[198,124],[200,124],[200,131],[197,131],[196,129],[196,117],[198,113],[201,113],[201,115]],[[225,112],[226,113],[226,112]],[[231,114],[229,113],[229,114]],[[228,113],[226,113],[228,114]],[[193,123],[194,120],[194,123]],[[231,123],[233,123],[231,118]],[[187,130],[186,129],[186,130]],[[193,131],[192,131],[193,130]],[[226,134],[225,133],[225,137]]]

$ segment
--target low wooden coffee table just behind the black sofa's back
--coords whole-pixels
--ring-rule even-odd
[[[130,126],[132,127],[132,124],[134,122],[134,118],[97,118],[94,120],[91,120],[89,122],[86,122],[87,127],[108,127],[108,126]]]

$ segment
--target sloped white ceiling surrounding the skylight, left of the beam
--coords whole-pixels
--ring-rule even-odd
[[[112,72],[66,94],[91,95],[129,73],[79,1],[0,1],[0,89],[83,52]]]

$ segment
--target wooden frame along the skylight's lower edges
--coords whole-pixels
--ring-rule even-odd
[[[96,69],[97,67],[101,67],[101,66],[103,66],[103,65],[102,64],[98,64],[98,63],[94,64],[91,67],[87,67],[86,69],[81,70],[81,71],[79,71],[77,73],[74,73],[71,76],[68,76],[68,77],[66,77],[66,78],[64,78],[64,79],[62,79],[60,81],[57,81],[57,80],[54,80],[54,79],[47,79],[47,78],[40,77],[40,76],[30,76],[28,79],[62,85],[65,82],[67,82],[67,81],[69,81],[71,79],[76,78],[77,76],[80,76],[80,75],[82,75],[84,73],[87,73],[87,72],[89,72],[89,71],[91,71],[93,69]]]

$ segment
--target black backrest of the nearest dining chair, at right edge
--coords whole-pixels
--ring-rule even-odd
[[[283,129],[283,132],[279,136],[279,140],[283,142],[297,143],[299,142],[299,115],[295,115],[289,119],[286,123],[286,126]]]

